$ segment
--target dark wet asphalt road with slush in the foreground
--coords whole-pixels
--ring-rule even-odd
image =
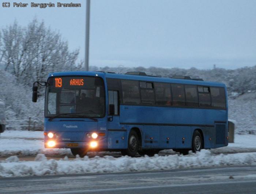
[[[0,178],[0,193],[256,193],[256,166]]]

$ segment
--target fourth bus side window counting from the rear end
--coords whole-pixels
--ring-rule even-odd
[[[185,106],[184,85],[172,84],[173,106]]]

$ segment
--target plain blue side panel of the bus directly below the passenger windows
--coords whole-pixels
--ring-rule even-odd
[[[215,121],[226,122],[226,111],[157,106],[120,106],[120,123],[122,124],[210,125],[213,127]]]

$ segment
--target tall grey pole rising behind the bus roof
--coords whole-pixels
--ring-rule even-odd
[[[90,35],[90,0],[86,0],[86,26],[85,26],[85,71],[89,71],[89,35]]]

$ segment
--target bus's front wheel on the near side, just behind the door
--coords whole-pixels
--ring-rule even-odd
[[[122,151],[128,156],[135,157],[139,148],[139,138],[135,131],[131,131],[128,138],[128,148]]]

